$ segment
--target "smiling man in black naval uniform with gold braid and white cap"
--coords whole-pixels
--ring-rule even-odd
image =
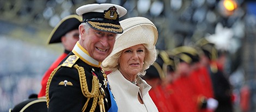
[[[87,4],[76,9],[83,18],[80,40],[51,73],[46,86],[48,111],[117,111],[101,62],[123,33],[119,17],[127,10],[115,4]]]

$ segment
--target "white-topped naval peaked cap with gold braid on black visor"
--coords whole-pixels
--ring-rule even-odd
[[[77,8],[76,13],[93,29],[120,34],[123,33],[123,28],[120,26],[119,17],[124,16],[127,10],[116,4],[95,3]]]

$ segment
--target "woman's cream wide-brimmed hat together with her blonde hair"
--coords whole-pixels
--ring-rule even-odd
[[[114,48],[111,54],[103,60],[102,67],[105,70],[113,70],[117,68],[118,62],[114,57],[115,54],[126,48],[145,44],[150,51],[145,57],[142,72],[148,69],[156,60],[155,44],[158,38],[158,32],[155,24],[145,17],[131,17],[120,21],[121,27],[124,29],[123,34],[118,34],[115,39]],[[142,73],[143,74],[143,73]]]

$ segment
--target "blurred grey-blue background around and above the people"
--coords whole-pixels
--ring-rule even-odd
[[[89,3],[122,5],[127,14],[121,20],[149,18],[159,30],[160,51],[202,38],[215,43],[218,51],[225,51],[222,66],[235,111],[256,111],[253,0],[0,0],[0,111],[39,92],[44,72],[63,52],[61,44],[47,45],[51,30]]]

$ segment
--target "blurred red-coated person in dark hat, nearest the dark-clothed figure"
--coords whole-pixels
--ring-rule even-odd
[[[186,93],[182,96],[186,97],[184,100],[189,102],[186,104],[190,105],[187,106],[187,109],[214,111],[218,103],[210,92],[212,88],[209,74],[199,66],[201,55],[199,49],[180,46],[172,49],[172,51],[175,54],[176,73],[180,75],[174,84],[179,85],[179,88]],[[184,72],[185,69],[188,71]]]

